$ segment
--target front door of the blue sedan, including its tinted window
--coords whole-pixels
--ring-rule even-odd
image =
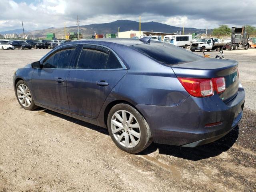
[[[32,86],[36,102],[68,111],[66,83],[76,56],[76,45],[65,46],[45,58],[42,69],[35,69]]]

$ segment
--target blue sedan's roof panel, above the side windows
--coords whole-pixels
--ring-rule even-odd
[[[88,40],[80,40],[80,41],[72,41],[67,42],[66,44],[77,44],[77,43],[95,43],[95,44],[106,44],[106,43],[114,43],[126,46],[132,46],[137,44],[143,44],[139,39],[132,38],[104,38],[104,39],[88,39]],[[156,41],[152,41],[150,43],[157,43]]]

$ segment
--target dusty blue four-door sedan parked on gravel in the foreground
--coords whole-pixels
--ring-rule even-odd
[[[213,142],[241,120],[238,62],[204,58],[145,39],[62,44],[14,73],[17,100],[108,128],[116,146],[138,153],[152,141]]]

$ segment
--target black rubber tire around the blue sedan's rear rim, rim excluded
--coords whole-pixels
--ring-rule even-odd
[[[112,119],[112,116],[119,110],[125,110],[125,111],[131,113],[136,118],[138,124],[140,125],[140,140],[139,140],[138,144],[136,146],[134,146],[133,148],[126,148],[125,146],[122,146],[114,138],[114,134],[112,133],[111,119]],[[128,104],[121,103],[121,104],[116,104],[114,107],[112,107],[112,109],[108,113],[108,132],[110,134],[112,141],[116,144],[116,146],[118,148],[120,148],[121,150],[123,150],[125,152],[131,153],[131,154],[136,154],[136,153],[143,151],[153,141],[152,135],[150,132],[150,128],[148,126],[148,123],[144,119],[144,117],[135,108],[133,108],[132,106],[130,106]]]

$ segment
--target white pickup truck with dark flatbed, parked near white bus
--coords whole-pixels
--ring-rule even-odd
[[[219,43],[215,42],[213,38],[209,39],[198,39],[197,42],[192,42],[190,44],[190,50],[195,51],[199,50],[201,52],[204,52],[205,50],[210,51],[210,50],[222,50],[223,46],[225,43]]]

